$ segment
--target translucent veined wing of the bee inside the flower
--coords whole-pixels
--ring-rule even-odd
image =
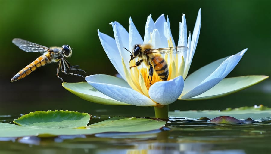
[[[160,54],[178,54],[181,52],[186,52],[188,49],[189,48],[186,46],[176,46],[176,47],[168,47],[168,48],[151,49],[148,52],[160,53]]]

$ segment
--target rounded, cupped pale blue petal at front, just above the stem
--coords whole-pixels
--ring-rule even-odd
[[[149,96],[161,105],[168,105],[177,100],[184,86],[182,76],[173,80],[154,83],[149,89]]]

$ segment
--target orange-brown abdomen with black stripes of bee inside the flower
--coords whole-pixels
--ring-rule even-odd
[[[167,62],[164,60],[164,58],[160,56],[154,56],[151,58],[154,62],[154,70],[156,71],[157,75],[163,80],[166,81],[168,78],[168,66]]]

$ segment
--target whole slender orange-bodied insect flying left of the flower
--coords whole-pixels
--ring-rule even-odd
[[[23,39],[15,38],[12,40],[12,43],[14,43],[16,46],[18,46],[20,49],[26,52],[42,52],[43,55],[39,56],[36,60],[34,60],[32,63],[24,67],[22,70],[20,70],[13,78],[11,78],[10,82],[20,80],[26,76],[28,76],[30,73],[32,73],[34,70],[36,70],[38,67],[44,66],[46,64],[49,64],[51,62],[58,62],[58,68],[57,68],[57,77],[61,79],[62,82],[64,80],[58,76],[59,70],[64,74],[68,75],[74,75],[74,76],[81,76],[79,74],[75,73],[69,73],[67,70],[77,70],[77,71],[83,71],[81,69],[77,69],[74,67],[79,67],[78,65],[72,66],[65,57],[70,57],[72,55],[72,49],[68,45],[63,45],[62,47],[51,47],[48,48],[46,46],[42,46],[36,43],[32,43]],[[86,73],[86,72],[85,72]],[[83,76],[81,76],[83,78]]]

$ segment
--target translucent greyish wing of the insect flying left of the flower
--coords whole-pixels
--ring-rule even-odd
[[[42,46],[36,43],[29,42],[27,40],[15,38],[12,40],[12,43],[14,43],[16,46],[18,46],[20,49],[26,52],[47,52],[52,51],[52,49]]]

